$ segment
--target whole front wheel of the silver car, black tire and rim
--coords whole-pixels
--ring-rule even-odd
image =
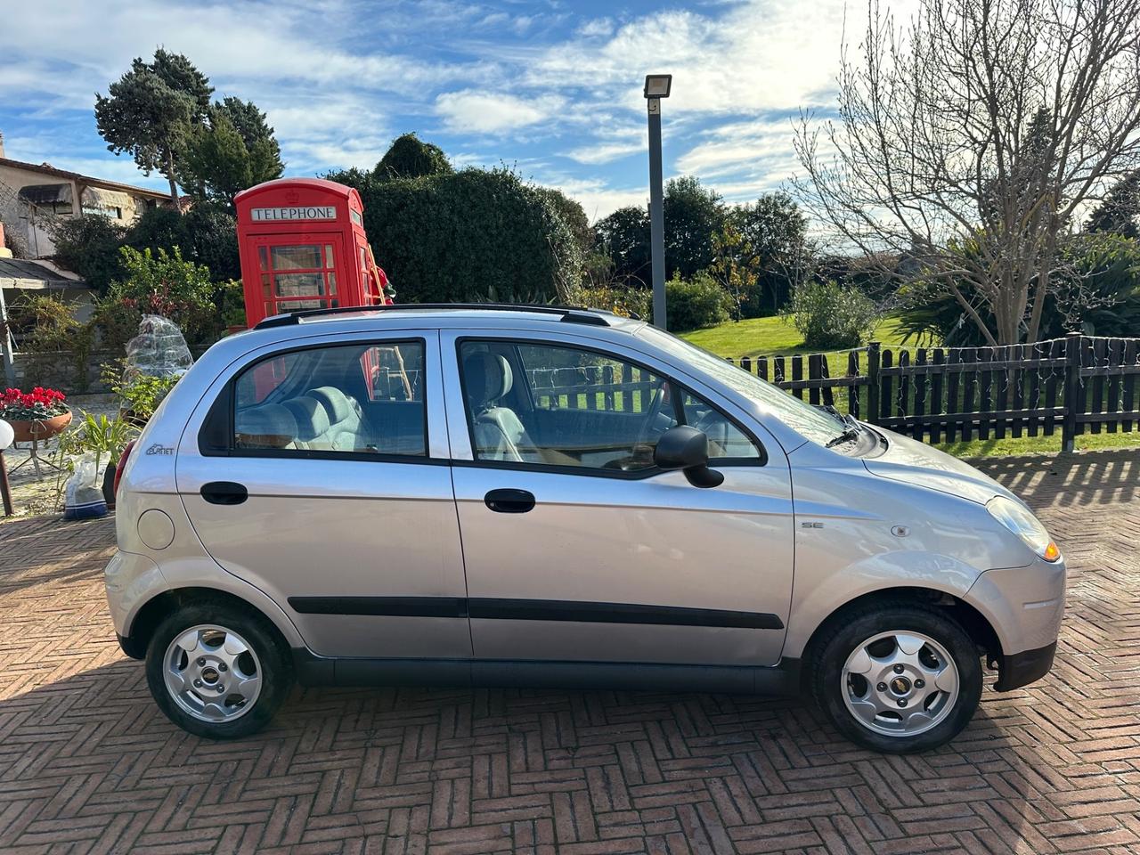
[[[853,742],[885,754],[926,751],[974,717],[979,660],[966,630],[938,609],[869,605],[845,613],[820,640],[812,692]]]

